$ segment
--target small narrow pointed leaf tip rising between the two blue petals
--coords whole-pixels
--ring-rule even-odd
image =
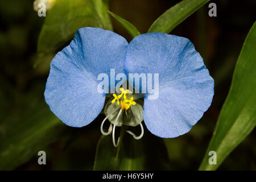
[[[120,16],[112,13],[109,11],[109,14],[113,16],[114,19],[116,19],[122,26],[125,28],[125,30],[131,35],[132,38],[135,38],[135,36],[140,35],[141,33],[137,30],[137,28],[128,22],[127,20],[121,18]]]

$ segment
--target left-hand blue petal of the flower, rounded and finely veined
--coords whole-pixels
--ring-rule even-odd
[[[98,93],[97,76],[115,69],[123,73],[128,43],[101,28],[80,28],[75,38],[51,62],[44,97],[66,125],[82,127],[100,114],[105,94]]]

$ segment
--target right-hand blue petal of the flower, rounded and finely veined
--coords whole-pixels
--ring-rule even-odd
[[[186,38],[142,34],[129,44],[125,72],[159,73],[159,97],[144,97],[144,122],[151,133],[174,138],[187,133],[212,103],[214,81]]]

